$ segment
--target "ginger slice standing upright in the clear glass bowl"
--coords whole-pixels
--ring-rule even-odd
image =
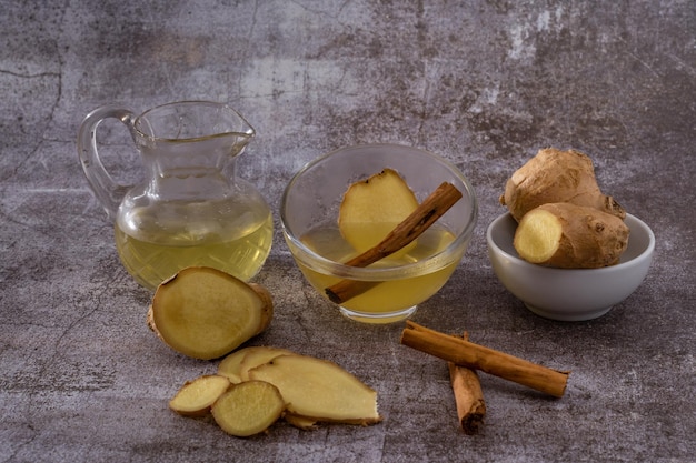
[[[348,188],[339,208],[338,228],[361,253],[384,240],[416,208],[418,199],[404,178],[387,168]]]

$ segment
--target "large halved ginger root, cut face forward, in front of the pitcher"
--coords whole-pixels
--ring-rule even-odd
[[[262,286],[195,266],[157,288],[148,324],[175,351],[211,360],[261,333],[272,313],[270,294]]]

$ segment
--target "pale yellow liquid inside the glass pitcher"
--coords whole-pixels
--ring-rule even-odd
[[[221,235],[197,230],[187,233],[149,232],[142,240],[123,232],[117,224],[116,246],[126,270],[145,288],[156,289],[162,281],[187,266],[211,266],[248,281],[259,271],[270,252],[272,215],[247,224],[233,234]],[[200,236],[203,236],[202,239]]]

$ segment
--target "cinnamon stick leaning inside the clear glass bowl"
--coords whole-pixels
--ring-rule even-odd
[[[461,199],[461,192],[448,182],[441,183],[422,203],[416,208],[401,223],[396,225],[382,241],[368,249],[364,253],[352,258],[346,265],[368,266],[387,255],[394,254],[401,248],[420,236],[435,221],[449,210]],[[341,304],[358,294],[364,293],[378,282],[366,282],[356,280],[341,280],[338,283],[326,288],[328,298]]]

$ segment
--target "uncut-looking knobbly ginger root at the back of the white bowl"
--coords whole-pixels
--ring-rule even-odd
[[[575,150],[539,150],[513,173],[500,197],[500,203],[518,222],[533,209],[558,202],[587,205],[622,220],[626,218],[624,208],[599,190],[591,159]]]

